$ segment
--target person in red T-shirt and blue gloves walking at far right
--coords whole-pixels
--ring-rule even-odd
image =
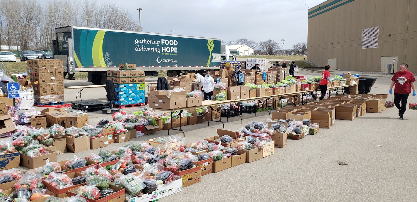
[[[392,94],[392,87],[394,87],[394,104],[398,108],[399,119],[404,119],[403,115],[407,109],[407,99],[411,93],[410,87],[413,89],[413,96],[416,95],[416,89],[414,86],[414,74],[411,71],[407,71],[408,64],[400,64],[399,71],[395,72],[391,79],[391,86],[389,87],[389,93]],[[400,102],[401,101],[401,105]]]

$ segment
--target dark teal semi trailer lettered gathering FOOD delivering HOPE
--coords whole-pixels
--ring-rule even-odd
[[[146,76],[180,76],[219,69],[220,62],[235,59],[221,54],[221,40],[171,34],[133,32],[90,27],[55,28],[55,59],[62,59],[65,79],[88,72],[88,82],[106,83],[106,71],[118,64],[136,64]]]

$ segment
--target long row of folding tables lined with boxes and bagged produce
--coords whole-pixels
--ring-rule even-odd
[[[345,88],[345,87],[356,86],[356,85],[357,84],[344,85],[344,86],[333,86],[332,88],[328,88],[327,90],[330,91],[332,89],[339,89],[339,88]],[[293,96],[293,95],[295,96],[295,95],[298,95],[298,94],[303,95],[303,94],[307,94],[307,93],[316,93],[317,91],[320,91],[320,89],[308,90],[308,91],[297,91],[297,92],[293,92],[293,93],[284,93],[284,94],[271,95],[271,96],[251,97],[251,98],[237,99],[237,100],[224,100],[224,101],[204,100],[202,106],[184,107],[184,108],[178,108],[178,109],[162,109],[162,108],[153,108],[153,109],[154,110],[158,110],[158,111],[168,111],[168,112],[171,112],[171,128],[168,129],[168,135],[169,135],[169,131],[170,130],[175,130],[175,131],[181,131],[183,133],[183,136],[185,137],[185,133],[184,133],[184,131],[181,128],[181,124],[180,124],[179,129],[172,128],[172,112],[174,112],[174,111],[180,111],[179,114],[181,115],[181,113],[184,110],[192,110],[192,109],[195,109],[195,108],[209,107],[211,109],[210,110],[210,113],[211,113],[210,121],[214,121],[213,120],[213,111],[217,111],[217,110],[215,110],[213,108],[213,106],[218,106],[218,105],[223,105],[223,104],[231,104],[231,103],[237,103],[237,102],[245,102],[245,101],[254,101],[254,100],[257,100],[258,101],[258,106],[259,106],[260,103],[263,103],[260,100],[271,99],[271,98],[272,99],[275,99],[275,98],[279,98],[279,97],[282,97],[282,96]],[[274,102],[275,102],[275,100],[274,100]],[[261,107],[261,108],[264,108],[264,107]],[[269,117],[271,117],[271,112],[267,108],[265,108],[265,109],[268,111]],[[275,109],[275,103],[273,104],[273,108],[271,109],[271,111],[273,109]],[[214,121],[214,122],[222,123],[223,124],[223,128],[224,128],[224,123],[223,123],[223,121],[221,121],[221,109],[219,108],[219,111],[217,111],[217,112],[220,113],[219,121]],[[229,111],[229,113],[230,113],[230,111]],[[239,116],[240,116],[240,113],[239,113]],[[255,113],[255,116],[256,116],[256,113]],[[242,117],[240,117],[240,118],[241,118],[241,123],[243,123]],[[180,116],[179,119],[180,119],[180,123],[181,123],[181,116]],[[208,121],[208,126],[210,126],[210,121]]]

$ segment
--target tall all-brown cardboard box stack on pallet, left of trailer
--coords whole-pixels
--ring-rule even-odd
[[[64,70],[61,59],[30,59],[28,76],[35,103],[64,101]]]

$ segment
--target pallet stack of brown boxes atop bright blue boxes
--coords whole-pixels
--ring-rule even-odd
[[[116,105],[145,103],[145,71],[136,71],[136,64],[119,64],[119,70],[108,70],[117,94]]]

